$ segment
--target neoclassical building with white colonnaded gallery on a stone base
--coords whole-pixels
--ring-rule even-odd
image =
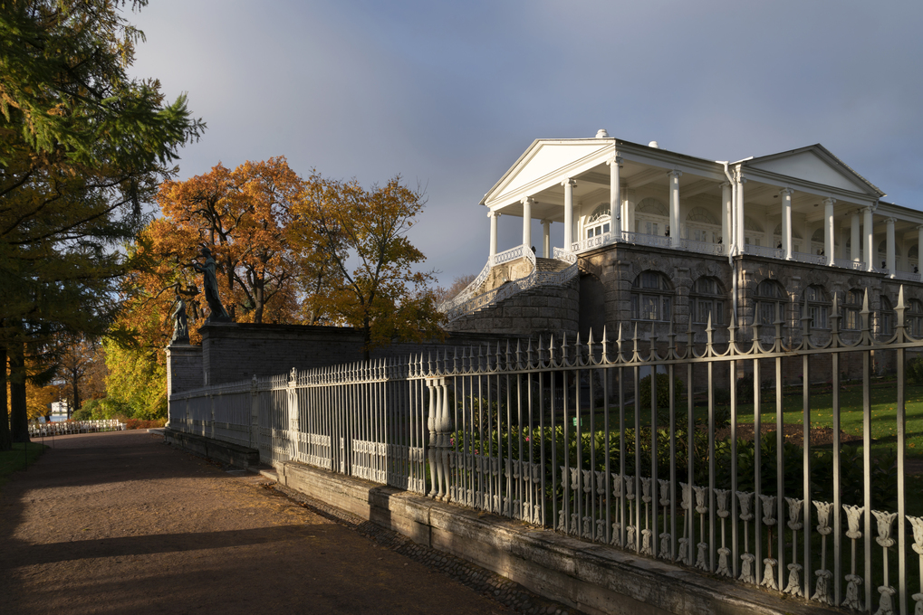
[[[797,337],[807,307],[821,339],[834,295],[841,329],[858,330],[868,290],[874,331],[886,336],[903,284],[919,335],[923,212],[884,196],[821,145],[725,162],[605,130],[537,139],[481,201],[487,263],[443,309],[456,331],[585,339],[592,328],[598,339],[604,327],[614,337],[618,325],[637,325],[647,338],[672,321],[701,340],[709,316],[719,327],[736,316],[746,332],[780,314]],[[520,245],[497,245],[500,223],[521,225]]]

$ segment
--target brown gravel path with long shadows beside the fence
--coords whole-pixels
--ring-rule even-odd
[[[562,612],[267,483],[147,432],[55,438],[0,493],[0,612]]]

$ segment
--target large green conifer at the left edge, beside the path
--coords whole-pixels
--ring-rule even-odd
[[[17,440],[28,440],[25,346],[102,333],[126,268],[114,248],[137,233],[178,148],[204,129],[185,97],[164,104],[157,81],[127,77],[142,35],[122,18],[125,4],[10,0],[0,11],[0,346]]]

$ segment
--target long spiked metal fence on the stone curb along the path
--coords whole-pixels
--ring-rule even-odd
[[[731,325],[730,342],[718,345],[709,325],[706,343],[694,345],[691,334],[685,343],[673,333],[642,341],[635,325],[615,340],[604,332],[585,343],[293,370],[172,396],[170,424],[258,447],[269,463],[394,485],[818,603],[919,613],[923,511],[907,508],[921,498],[908,498],[905,486],[905,359],[923,340],[907,335],[905,310],[901,290],[887,341],[871,334],[868,298],[859,337],[842,338],[834,299],[822,344],[811,340],[809,318],[797,346],[786,346],[781,318],[768,345],[749,341],[766,337],[756,326],[743,341]],[[870,403],[873,361],[884,353],[896,366],[894,457],[872,439],[872,422],[887,420],[873,418]],[[839,433],[850,355],[863,365],[861,442],[814,446],[811,383],[830,383],[829,420]],[[803,383],[800,447],[785,440],[783,368],[791,361]],[[727,390],[724,439],[720,366],[756,383]],[[644,373],[653,391],[665,380],[665,398],[641,403]],[[704,389],[701,408],[696,396],[678,394],[679,376]],[[742,407],[771,411],[767,400],[774,435],[738,439]],[[761,412],[749,420],[760,434]]]

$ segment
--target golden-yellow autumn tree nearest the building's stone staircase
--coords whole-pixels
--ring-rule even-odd
[[[316,246],[342,283],[317,299],[322,308],[363,333],[370,350],[393,338],[422,341],[443,336],[443,316],[429,284],[433,272],[414,271],[426,260],[406,233],[426,204],[422,190],[411,190],[400,176],[364,190],[314,173],[295,207],[296,242]]]

